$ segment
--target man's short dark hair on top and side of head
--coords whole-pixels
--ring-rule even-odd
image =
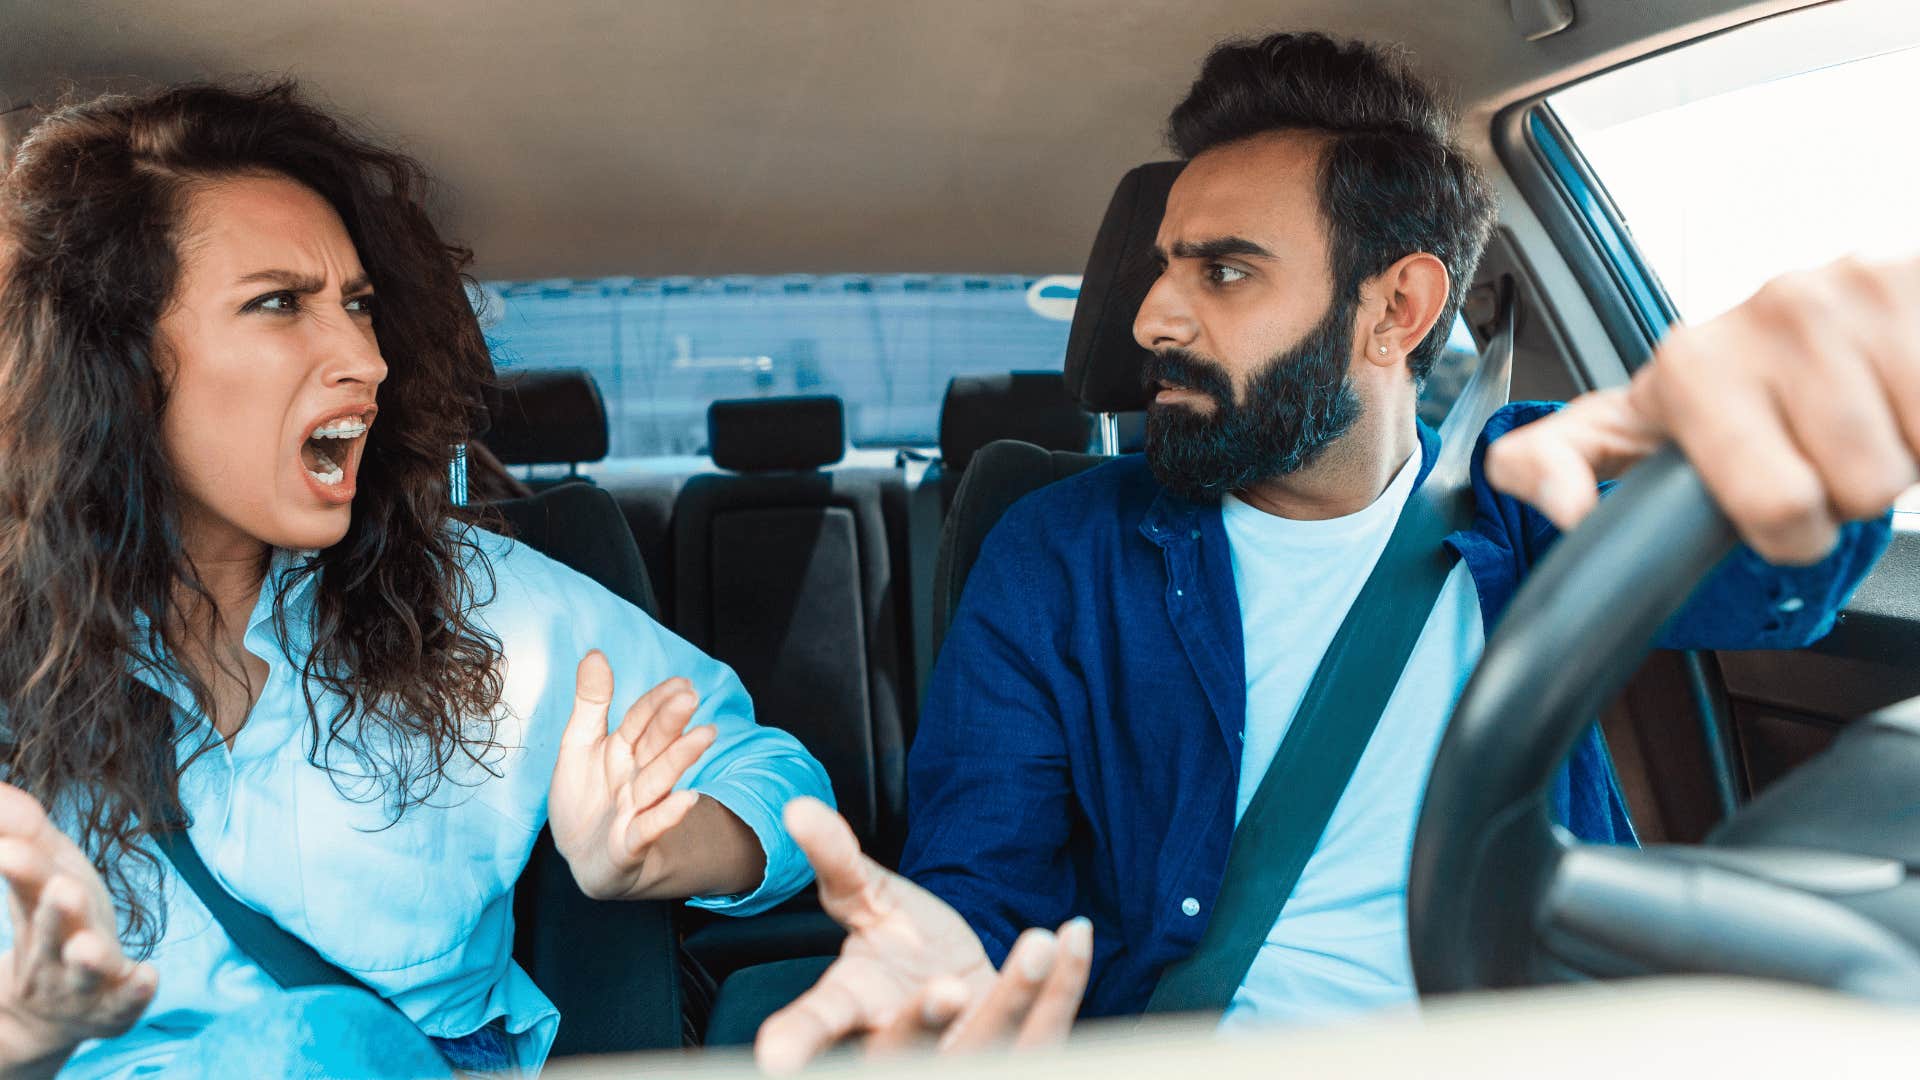
[[[1396,56],[1319,33],[1221,42],[1167,117],[1181,158],[1271,131],[1329,136],[1321,215],[1331,225],[1334,300],[1394,261],[1428,252],[1450,277],[1432,332],[1407,354],[1432,369],[1494,225],[1486,177],[1453,142],[1453,113]]]

